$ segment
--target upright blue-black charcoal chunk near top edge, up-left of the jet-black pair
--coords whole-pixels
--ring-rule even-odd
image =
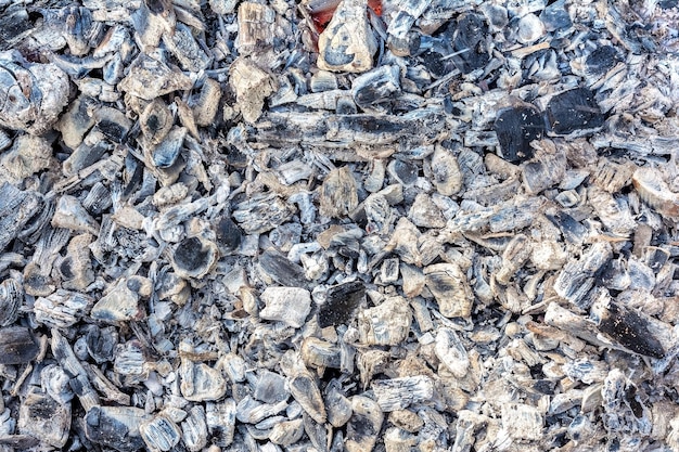
[[[462,74],[484,67],[490,61],[485,42],[488,25],[482,14],[467,13],[459,21],[452,41],[452,49],[459,52],[452,57]]]

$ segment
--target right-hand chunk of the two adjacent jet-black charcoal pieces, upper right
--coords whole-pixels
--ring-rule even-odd
[[[603,126],[604,121],[594,94],[587,88],[576,88],[553,96],[545,113],[551,131],[556,134],[593,129]]]

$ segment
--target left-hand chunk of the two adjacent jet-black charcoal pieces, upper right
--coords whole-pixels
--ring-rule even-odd
[[[537,109],[525,107],[503,108],[494,125],[502,157],[512,163],[522,163],[533,157],[530,142],[540,140],[545,133],[545,121]]]

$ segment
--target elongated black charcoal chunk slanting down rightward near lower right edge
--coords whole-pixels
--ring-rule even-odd
[[[635,311],[610,302],[601,314],[599,330],[623,347],[651,358],[661,359],[665,350],[649,330],[649,323]]]

